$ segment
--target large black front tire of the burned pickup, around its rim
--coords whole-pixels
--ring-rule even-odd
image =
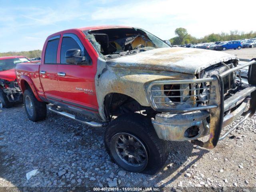
[[[118,133],[124,132],[136,136],[144,144],[148,155],[148,163],[143,170],[124,168],[114,159],[110,150],[111,138]],[[123,114],[110,122],[105,131],[104,142],[110,158],[120,167],[130,172],[155,174],[164,166],[169,154],[167,141],[158,138],[151,120],[137,113]]]

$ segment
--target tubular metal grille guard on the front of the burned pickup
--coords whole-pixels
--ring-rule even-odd
[[[191,142],[193,144],[196,144],[198,146],[213,149],[217,144],[219,140],[222,140],[225,136],[227,136],[232,130],[234,130],[236,127],[238,127],[242,122],[244,122],[248,117],[252,116],[256,111],[256,65],[252,66],[253,64],[256,64],[256,60],[252,60],[250,62],[247,62],[243,65],[239,65],[237,67],[231,68],[229,70],[226,70],[225,72],[219,74],[219,75],[213,75],[211,78],[202,78],[202,79],[192,79],[192,80],[165,80],[165,81],[156,81],[151,82],[147,87],[148,92],[148,100],[150,101],[150,105],[154,110],[160,111],[160,112],[170,112],[170,113],[185,113],[185,112],[191,112],[191,111],[197,111],[197,110],[209,110],[210,113],[210,138],[207,142],[202,142],[199,140],[192,140]],[[235,72],[237,70],[240,70],[246,66],[250,66],[249,70],[249,78],[248,82],[251,84],[248,88],[245,88],[241,91],[239,91],[239,97],[238,95],[234,95],[231,98],[224,101],[224,83],[223,83],[223,77],[229,75],[232,72]],[[207,106],[200,106],[200,107],[194,107],[194,108],[182,108],[182,109],[176,109],[176,108],[158,108],[156,103],[154,102],[154,96],[151,92],[151,89],[154,85],[164,85],[164,84],[193,84],[193,83],[202,83],[202,82],[211,82],[210,83],[210,92],[212,90],[215,90],[215,98],[209,100],[209,103]],[[228,130],[221,138],[220,134],[222,131],[222,126],[224,122],[224,111],[228,110],[229,108],[232,108],[236,106],[240,101],[246,100],[246,98],[250,95],[250,108],[244,112],[242,115],[244,115],[244,118],[240,120],[233,128]],[[210,96],[211,98],[211,96]]]

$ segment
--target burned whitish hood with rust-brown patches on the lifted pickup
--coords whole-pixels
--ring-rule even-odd
[[[108,66],[197,74],[219,62],[238,59],[221,51],[196,48],[157,48],[107,61]]]

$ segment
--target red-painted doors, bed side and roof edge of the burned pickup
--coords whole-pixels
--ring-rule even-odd
[[[42,50],[41,64],[17,64],[16,74],[18,84],[24,91],[25,83],[33,86],[33,91],[37,98],[39,96],[45,100],[56,98],[58,102],[74,103],[74,106],[82,108],[92,108],[98,110],[98,102],[95,89],[95,75],[97,72],[98,53],[94,50],[89,40],[85,38],[82,30],[97,30],[103,28],[123,28],[124,26],[94,26],[80,29],[70,29],[57,32],[48,36]],[[92,65],[80,66],[70,64],[60,64],[60,49],[63,34],[75,34],[82,42],[84,48],[90,55]],[[45,64],[44,56],[47,42],[50,38],[60,35],[60,41],[57,50],[57,64]],[[46,74],[39,74],[40,71],[46,71]],[[58,72],[65,72],[66,76],[58,76]],[[24,77],[26,76],[26,78]],[[29,80],[28,80],[29,79]],[[82,90],[81,90],[82,89]],[[91,92],[88,94],[86,90]],[[40,100],[40,99],[38,99]],[[71,104],[72,105],[72,104]]]

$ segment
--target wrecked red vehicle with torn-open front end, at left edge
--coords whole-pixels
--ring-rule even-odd
[[[22,101],[22,92],[16,81],[17,63],[31,62],[24,56],[0,57],[0,108],[9,108]]]

